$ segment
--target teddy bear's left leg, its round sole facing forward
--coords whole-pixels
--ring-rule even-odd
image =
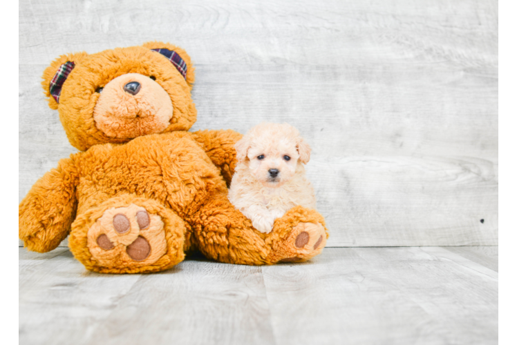
[[[181,262],[185,222],[158,202],[123,195],[77,216],[69,245],[89,270],[149,273]]]

